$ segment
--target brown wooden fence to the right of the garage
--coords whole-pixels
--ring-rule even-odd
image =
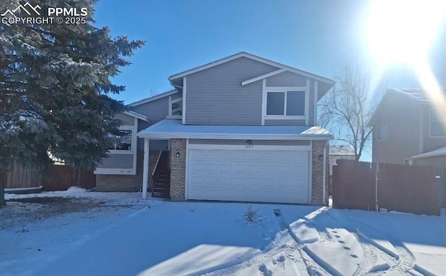
[[[333,207],[439,216],[446,198],[443,176],[434,167],[339,160],[333,166]]]

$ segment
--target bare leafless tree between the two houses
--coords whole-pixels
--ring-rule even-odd
[[[359,161],[371,138],[369,121],[375,109],[370,74],[347,63],[334,79],[336,85],[319,104],[318,124],[334,133],[336,140],[351,145]]]

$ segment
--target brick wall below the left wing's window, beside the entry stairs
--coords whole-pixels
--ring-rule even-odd
[[[148,187],[152,186],[152,170],[160,154],[159,150],[151,150],[148,156]],[[137,152],[137,173],[128,174],[96,174],[96,190],[98,192],[137,192],[142,189],[142,173],[144,151]]]

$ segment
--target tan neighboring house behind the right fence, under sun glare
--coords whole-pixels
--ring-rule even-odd
[[[446,92],[387,90],[376,108],[372,161],[446,168]]]

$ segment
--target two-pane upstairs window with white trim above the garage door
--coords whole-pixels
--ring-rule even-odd
[[[305,91],[268,91],[266,115],[304,116]]]

